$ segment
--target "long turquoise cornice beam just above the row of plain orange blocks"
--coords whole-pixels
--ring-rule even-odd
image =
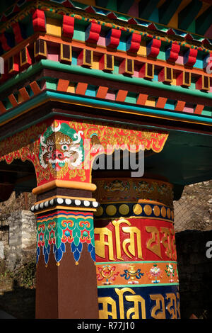
[[[157,81],[148,81],[146,79],[142,79],[139,77],[126,77],[122,74],[112,74],[105,73],[98,69],[88,69],[81,66],[69,65],[69,64],[61,64],[60,62],[54,62],[53,60],[40,60],[37,64],[33,64],[30,66],[25,72],[16,75],[12,79],[9,79],[4,84],[0,86],[0,93],[5,91],[6,89],[11,88],[12,86],[16,86],[18,82],[28,79],[33,74],[40,72],[42,69],[54,69],[55,71],[61,72],[69,72],[75,74],[81,74],[88,77],[97,77],[99,79],[107,79],[111,81],[123,82],[126,84],[136,84],[140,86],[147,86],[150,88],[161,89],[163,91],[172,91],[174,93],[179,93],[183,95],[195,96],[200,98],[208,98],[212,99],[212,94],[208,94],[204,91],[192,90],[192,89],[184,89],[182,86],[168,86],[163,84],[162,82]]]

